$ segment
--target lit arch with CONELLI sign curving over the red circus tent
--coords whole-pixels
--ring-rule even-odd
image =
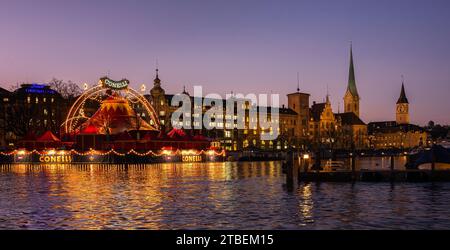
[[[92,114],[86,112],[88,103],[97,103],[100,106],[107,99],[126,100],[130,107],[138,107],[140,119],[142,118],[149,124],[152,130],[159,130],[160,123],[158,116],[148,100],[139,92],[129,87],[129,81],[122,79],[114,81],[108,77],[99,80],[98,85],[88,88],[85,84],[84,93],[78,97],[72,107],[69,109],[67,118],[61,125],[61,132],[65,135],[74,135],[79,133],[82,125],[88,121]]]

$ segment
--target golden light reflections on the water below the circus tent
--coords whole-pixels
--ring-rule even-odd
[[[76,229],[170,229],[176,227],[171,223],[183,216],[182,211],[201,214],[206,207],[241,213],[248,205],[239,202],[243,194],[264,190],[269,195],[281,188],[273,179],[281,175],[280,165],[273,162],[35,164],[10,165],[0,171],[21,178],[15,188],[35,191],[20,195],[36,204],[36,213],[52,211],[64,218],[48,221],[51,228],[62,223]],[[266,178],[273,185],[258,185]],[[255,183],[252,190],[239,187],[242,179]],[[195,227],[196,222],[185,223]]]

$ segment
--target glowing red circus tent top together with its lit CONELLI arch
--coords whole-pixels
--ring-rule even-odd
[[[92,114],[89,110],[93,106],[97,111]],[[101,78],[92,88],[85,84],[85,92],[70,108],[61,132],[75,135],[89,126],[100,134],[160,129],[156,112],[148,100],[130,88],[127,79],[114,81],[108,77]]]

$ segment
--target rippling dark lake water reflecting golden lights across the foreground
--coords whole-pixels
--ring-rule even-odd
[[[0,229],[450,228],[450,183],[285,183],[278,162],[0,166]]]

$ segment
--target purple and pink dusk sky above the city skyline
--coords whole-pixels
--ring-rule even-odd
[[[286,94],[337,111],[349,41],[364,121],[395,119],[405,76],[411,121],[450,123],[450,1],[0,2],[0,86],[52,77],[137,87],[158,59],[167,93]],[[148,88],[149,89],[149,88]],[[342,108],[341,108],[342,110]]]

